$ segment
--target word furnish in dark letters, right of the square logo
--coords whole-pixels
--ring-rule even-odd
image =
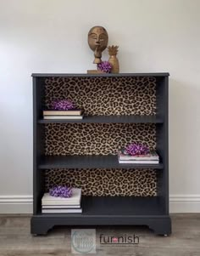
[[[101,245],[136,245],[140,242],[140,237],[135,234],[132,236],[123,235],[123,236],[104,236],[101,234],[99,236]]]

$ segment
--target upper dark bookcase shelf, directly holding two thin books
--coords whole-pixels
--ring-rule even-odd
[[[80,120],[39,119],[38,123],[163,123],[162,117],[156,116],[91,116]]]

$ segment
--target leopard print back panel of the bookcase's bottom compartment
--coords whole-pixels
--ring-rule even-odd
[[[156,196],[157,175],[150,169],[50,169],[46,191],[55,185],[82,189],[85,196]]]

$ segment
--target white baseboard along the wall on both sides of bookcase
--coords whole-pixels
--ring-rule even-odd
[[[32,196],[0,196],[0,213],[32,213]],[[200,195],[169,196],[170,213],[200,213]]]

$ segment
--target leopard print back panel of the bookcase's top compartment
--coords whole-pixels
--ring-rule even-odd
[[[155,115],[155,77],[47,77],[45,106],[72,100],[85,115]]]

